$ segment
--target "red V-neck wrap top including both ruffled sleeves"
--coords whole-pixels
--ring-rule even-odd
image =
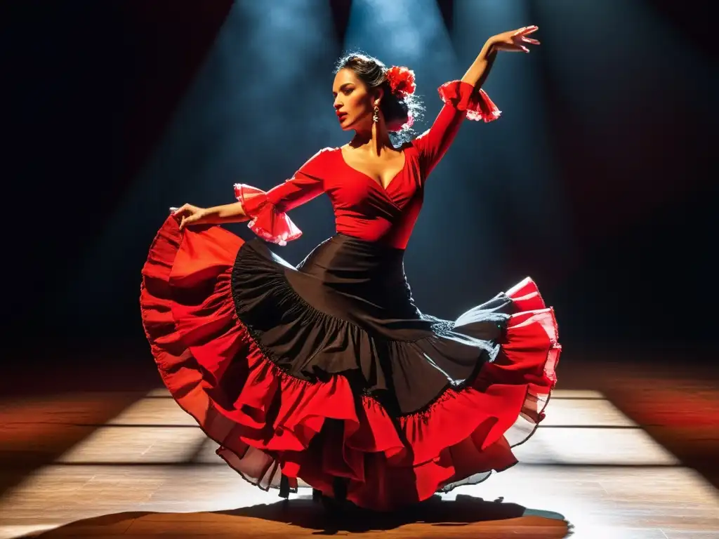
[[[324,148],[267,193],[235,185],[237,200],[251,218],[249,227],[264,239],[285,244],[301,235],[285,212],[327,193],[337,232],[404,249],[422,206],[424,183],[464,118],[491,121],[500,115],[484,91],[459,80],[442,85],[439,95],[444,107],[426,132],[402,147],[404,167],[386,189],[350,167],[341,149]]]

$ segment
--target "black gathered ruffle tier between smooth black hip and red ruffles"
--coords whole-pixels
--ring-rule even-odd
[[[357,374],[355,391],[375,400],[392,418],[422,415],[447,390],[471,384],[482,364],[495,358],[496,340],[510,318],[508,313],[495,312],[503,306],[511,310],[510,299],[498,296],[477,306],[475,310],[481,314],[470,316],[469,321],[453,323],[423,315],[426,330],[377,340],[357,323],[307,303],[290,285],[285,270],[264,245],[245,245],[232,272],[232,295],[240,323],[265,357],[288,376],[316,382],[318,370],[323,379],[332,374]],[[492,328],[491,341],[487,340],[487,326]],[[474,338],[472,327],[482,336]],[[388,373],[383,354],[402,360]],[[303,358],[311,361],[304,365]],[[300,371],[298,364],[303,366]],[[398,379],[393,377],[395,370],[403,373]],[[360,371],[366,377],[372,373],[371,384],[359,377]],[[453,372],[456,379],[449,379],[446,372]],[[397,382],[422,389],[385,398],[386,388],[396,387]]]

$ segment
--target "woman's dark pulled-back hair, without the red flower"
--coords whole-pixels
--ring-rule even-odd
[[[383,89],[384,94],[382,101],[380,101],[380,111],[385,118],[385,123],[388,126],[393,126],[393,124],[402,126],[400,129],[392,129],[390,135],[397,139],[395,142],[408,140],[414,133],[412,127],[406,125],[409,117],[411,116],[413,120],[417,120],[423,111],[419,99],[414,94],[400,98],[400,96],[393,93],[385,76],[387,68],[385,64],[375,57],[361,52],[352,52],[339,59],[334,73],[338,73],[342,69],[352,70],[370,91],[375,88]]]

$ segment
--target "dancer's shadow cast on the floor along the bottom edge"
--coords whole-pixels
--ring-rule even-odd
[[[411,529],[406,527],[411,526]],[[260,538],[267,533],[289,537],[362,533],[365,538],[388,537],[493,537],[564,538],[571,525],[556,512],[531,510],[501,499],[458,495],[456,500],[435,496],[426,502],[393,513],[346,510],[332,514],[306,497],[216,512],[124,512],[78,520],[40,535],[43,539],[68,535],[128,533],[144,537]]]

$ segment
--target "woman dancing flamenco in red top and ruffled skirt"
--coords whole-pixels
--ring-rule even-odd
[[[229,466],[280,495],[315,494],[393,510],[516,463],[510,447],[544,417],[556,383],[557,324],[526,279],[457,319],[413,303],[403,253],[423,187],[465,117],[499,111],[480,90],[500,50],[536,45],[525,27],[490,38],[420,137],[413,73],[350,55],[334,108],[352,142],[325,148],[267,193],[186,204],[165,221],[142,275],[142,319],[173,397],[219,443]],[[217,224],[247,221],[284,244],[286,215],[321,193],[337,234],[292,267],[259,239]]]

